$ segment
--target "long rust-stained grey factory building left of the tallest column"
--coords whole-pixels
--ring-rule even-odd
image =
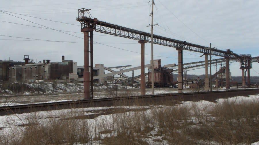
[[[52,62],[50,60],[43,60],[39,63],[30,63],[29,56],[25,57],[25,62],[9,62],[5,71],[6,81],[10,82],[34,82],[36,80],[42,81],[58,81],[58,82],[76,82],[77,62],[73,60],[64,60],[62,62]],[[29,62],[29,64],[25,64]],[[0,67],[1,68],[1,67]],[[0,69],[1,70],[1,69]]]

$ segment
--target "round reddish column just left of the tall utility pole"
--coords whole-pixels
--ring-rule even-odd
[[[141,74],[140,74],[140,93],[146,95],[146,76],[145,76],[145,40],[140,40],[141,44]]]

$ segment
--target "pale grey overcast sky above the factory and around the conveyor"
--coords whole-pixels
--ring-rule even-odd
[[[212,43],[212,47],[220,50],[231,49],[237,54],[251,54],[255,57],[259,55],[258,6],[258,0],[155,0],[154,23],[158,23],[159,26],[154,27],[154,34],[208,47]],[[8,15],[0,12],[0,35],[4,35],[0,36],[0,59],[4,60],[10,57],[11,60],[24,61],[24,55],[30,55],[30,58],[34,59],[35,62],[43,61],[43,59],[60,62],[61,56],[64,55],[66,60],[76,61],[78,65],[83,66],[83,39],[81,39],[83,33],[80,32],[80,23],[75,20],[77,10],[80,8],[92,9],[90,11],[92,17],[101,21],[151,32],[151,28],[146,27],[151,24],[151,17],[149,16],[151,3],[148,3],[148,0],[1,0],[0,10],[12,13]],[[56,30],[70,31],[65,33],[81,38],[55,30],[31,26],[46,26]],[[94,32],[93,37],[94,42],[140,52],[140,44],[136,40],[99,32]],[[43,40],[63,42],[46,42]],[[101,63],[106,67],[140,66],[139,53],[102,44],[94,43],[94,64]],[[145,53],[151,54],[151,44],[146,44]],[[156,55],[154,59],[161,59],[162,65],[178,63],[178,53],[175,48],[154,44],[154,55]],[[183,61],[187,63],[204,60],[204,56],[199,57],[200,55],[202,54],[184,50]],[[212,59],[216,58],[220,57],[212,57]],[[151,56],[145,55],[145,64],[149,64],[150,60]],[[252,67],[251,76],[259,76],[259,64],[254,62]],[[233,76],[241,76],[239,62],[231,63],[230,69]],[[215,67],[212,67],[212,73],[215,73]],[[192,70],[188,74],[205,74],[205,69]],[[140,75],[140,71],[136,71],[135,75]]]

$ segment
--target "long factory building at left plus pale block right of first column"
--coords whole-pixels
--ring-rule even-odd
[[[96,64],[93,75],[104,74],[103,64]],[[34,63],[28,55],[24,56],[24,62],[15,62],[13,60],[0,60],[0,80],[10,82],[35,82],[39,80],[57,81],[57,82],[77,82],[83,77],[83,66],[77,66],[73,60],[65,60],[62,56],[61,62],[43,62]],[[104,83],[105,78],[99,79]]]

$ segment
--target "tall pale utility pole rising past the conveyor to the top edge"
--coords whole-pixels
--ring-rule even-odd
[[[153,52],[153,14],[154,11],[154,0],[152,0],[152,12],[151,12],[151,89],[152,95],[154,95],[154,52]]]

